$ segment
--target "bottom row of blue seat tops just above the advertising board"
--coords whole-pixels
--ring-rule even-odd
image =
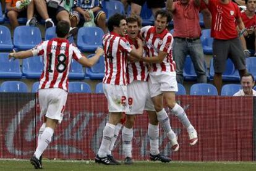
[[[38,91],[39,82],[32,85],[32,93]],[[183,85],[178,84],[178,95],[186,95],[186,89]],[[221,89],[221,96],[233,96],[234,93],[241,90],[239,84],[224,85]],[[254,87],[256,90],[256,86]],[[4,81],[0,86],[0,92],[27,93],[28,87],[22,81]],[[92,93],[92,88],[88,83],[81,81],[69,82],[70,93]],[[95,93],[103,93],[102,83],[98,83],[95,87]],[[214,85],[208,83],[196,83],[190,88],[190,95],[218,96],[218,91]]]

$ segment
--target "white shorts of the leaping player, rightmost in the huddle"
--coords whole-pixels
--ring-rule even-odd
[[[148,87],[151,98],[163,94],[164,91],[177,92],[176,72],[150,72]]]

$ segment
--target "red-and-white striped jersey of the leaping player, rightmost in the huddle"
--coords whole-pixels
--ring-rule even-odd
[[[175,72],[176,64],[173,60],[173,36],[167,29],[162,33],[156,33],[153,26],[143,27],[141,30],[145,41],[146,54],[148,57],[158,56],[159,51],[167,52],[161,64],[152,64],[152,72]]]

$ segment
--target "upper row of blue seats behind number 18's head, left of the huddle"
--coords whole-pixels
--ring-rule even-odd
[[[50,27],[45,32],[45,40],[56,37],[56,27]],[[102,46],[103,30],[99,27],[81,27],[77,35],[77,46],[83,52],[94,52],[98,46]],[[23,51],[32,49],[42,41],[41,31],[37,27],[19,26],[14,30],[12,44],[11,31],[0,25],[0,51]],[[71,36],[69,42],[73,43]]]

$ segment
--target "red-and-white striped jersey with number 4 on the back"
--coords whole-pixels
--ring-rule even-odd
[[[103,36],[105,52],[105,77],[103,83],[127,85],[127,53],[132,51],[130,43],[120,35],[111,32]]]

